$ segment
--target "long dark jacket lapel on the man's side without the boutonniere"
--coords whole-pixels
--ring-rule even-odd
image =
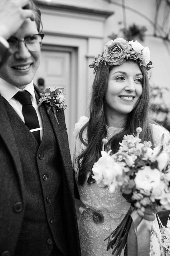
[[[7,111],[4,106],[4,98],[0,95],[0,135],[2,136],[4,143],[6,144],[11,157],[14,162],[14,167],[16,169],[18,180],[20,183],[21,194],[23,195],[23,173],[22,173],[22,166],[20,162],[20,156],[18,152],[18,147],[15,141],[15,137],[11,128],[11,123],[8,118]],[[5,100],[6,101],[6,100]]]

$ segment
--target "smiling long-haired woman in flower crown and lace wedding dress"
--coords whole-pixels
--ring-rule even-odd
[[[142,142],[151,141],[156,146],[162,134],[164,144],[170,139],[169,132],[153,124],[149,116],[147,70],[151,65],[148,47],[122,38],[108,41],[102,55],[95,56],[90,65],[95,78],[89,118],[81,117],[74,130],[74,170],[82,202],[78,224],[82,256],[112,255],[105,239],[130,207],[119,190],[110,194],[106,188],[92,183],[92,166],[101,156],[102,139],[108,139],[107,150],[112,149],[113,153],[118,151],[123,136],[135,134],[137,127],[142,128]],[[95,212],[100,218],[96,218]],[[155,232],[151,235],[150,255],[164,255],[156,218],[152,229]]]

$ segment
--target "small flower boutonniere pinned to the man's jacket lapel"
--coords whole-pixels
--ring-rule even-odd
[[[64,102],[65,98],[63,94],[64,90],[65,90],[64,88],[53,88],[52,90],[50,90],[50,88],[46,89],[45,94],[40,93],[41,98],[38,104],[38,106],[40,106],[42,103],[47,104],[47,112],[49,113],[50,109],[53,111],[54,116],[57,120],[58,126],[59,126],[59,122],[58,122],[56,113],[58,111],[61,111],[61,109],[66,109],[66,105]]]

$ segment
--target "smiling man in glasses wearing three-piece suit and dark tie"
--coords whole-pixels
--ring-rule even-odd
[[[63,111],[38,108],[41,13],[8,39],[0,68],[0,255],[79,256],[72,165]],[[36,128],[32,127],[36,124]],[[31,131],[30,131],[31,130]]]

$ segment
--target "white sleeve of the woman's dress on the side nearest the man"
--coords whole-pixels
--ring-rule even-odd
[[[74,152],[73,152],[73,168],[76,169],[75,159],[82,152],[82,142],[79,139],[79,132],[81,128],[88,121],[88,117],[81,116],[79,121],[75,124],[73,137],[74,137]]]

